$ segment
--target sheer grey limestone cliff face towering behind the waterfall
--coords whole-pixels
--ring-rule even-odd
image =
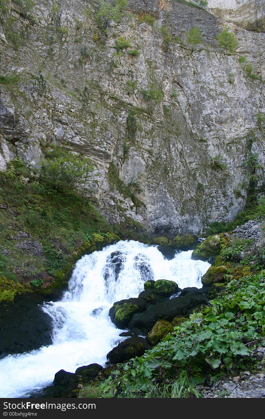
[[[251,153],[262,192],[262,31],[229,23],[239,47],[226,55],[216,35],[227,23],[178,1],[131,0],[105,29],[92,1],[43,0],[27,13],[7,4],[0,170],[17,155],[38,173],[43,150],[64,145],[93,160],[95,180],[84,187],[93,186],[87,194],[109,221],[130,217],[154,233],[196,234],[232,220],[246,202]],[[143,12],[156,18],[153,26],[139,23]],[[193,50],[191,26],[203,34]],[[120,36],[131,47],[117,53]],[[244,71],[242,55],[259,78]]]

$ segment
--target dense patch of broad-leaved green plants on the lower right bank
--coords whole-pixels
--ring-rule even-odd
[[[254,362],[252,350],[265,335],[264,301],[265,272],[232,279],[208,307],[196,310],[153,349],[117,365],[98,385],[101,397],[148,397],[157,381],[176,371],[189,370],[200,379],[210,371],[231,371]],[[183,387],[182,380],[175,394]]]

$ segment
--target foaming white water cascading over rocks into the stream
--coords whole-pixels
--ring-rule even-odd
[[[193,261],[191,253],[167,260],[157,246],[119,241],[83,256],[62,300],[42,307],[53,322],[53,344],[0,360],[0,397],[26,397],[49,385],[61,369],[75,372],[94,362],[104,365],[106,354],[125,339],[108,316],[113,303],[138,297],[148,279],[200,288],[210,264]]]

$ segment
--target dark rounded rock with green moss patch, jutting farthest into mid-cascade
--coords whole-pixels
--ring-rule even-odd
[[[147,302],[142,298],[129,298],[114,303],[109,310],[111,321],[120,329],[128,326],[135,313],[141,313],[147,308]]]

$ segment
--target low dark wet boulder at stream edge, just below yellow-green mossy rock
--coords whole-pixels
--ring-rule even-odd
[[[131,337],[118,344],[107,354],[107,359],[112,363],[124,362],[134,357],[140,357],[147,349],[151,349],[146,339]]]

